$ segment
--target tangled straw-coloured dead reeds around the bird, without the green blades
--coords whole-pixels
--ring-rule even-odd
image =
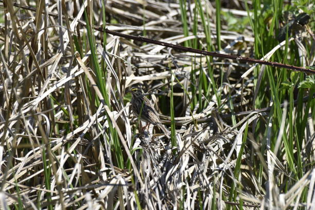
[[[98,107],[94,98],[103,96],[93,85],[97,79],[92,70],[86,28],[78,22],[83,20],[83,8],[89,5],[94,24],[101,25],[102,9],[98,2],[74,6],[72,1],[66,1],[67,15],[75,17],[69,24],[63,12],[63,1],[36,5],[36,12],[6,2],[3,8],[8,12],[7,22],[0,28],[0,202],[3,207],[36,208],[40,202],[42,208],[50,205],[136,209],[138,204],[147,209],[194,209],[201,203],[203,208],[214,207],[215,203],[216,208],[224,209],[228,204],[238,206],[240,202],[224,202],[229,200],[233,184],[238,186],[238,198],[248,209],[304,206],[314,201],[311,196],[313,170],[305,170],[299,181],[289,179],[291,171],[285,156],[278,160],[272,150],[261,153],[259,149],[259,139],[264,132],[255,136],[253,131],[258,121],[270,123],[270,110],[251,111],[257,93],[254,92],[254,68],[250,65],[216,58],[211,61],[221,98],[218,101],[216,95],[207,97],[198,89],[203,85],[198,83],[201,72],[207,83],[212,82],[206,57],[108,35],[107,53],[98,45],[97,58],[99,63],[103,59],[107,64],[106,85],[111,107],[102,103]],[[35,6],[33,1],[30,3]],[[191,3],[186,8],[189,21],[193,21],[191,14],[195,6]],[[212,4],[206,2],[203,7],[208,16],[215,16]],[[39,15],[47,11],[58,15]],[[106,12],[107,21],[121,21],[108,24],[110,30],[143,36],[145,28],[146,37],[174,44],[196,38],[193,34],[183,35],[179,4],[107,1]],[[231,12],[247,15],[242,10]],[[61,14],[65,15],[63,19]],[[198,42],[206,48],[200,17],[198,23]],[[214,21],[208,27],[215,34]],[[72,32],[71,37],[67,31]],[[252,56],[253,33],[247,28],[243,34],[228,31],[228,27],[222,25],[222,53]],[[74,51],[74,35],[85,50],[81,58]],[[101,44],[103,34],[94,31],[94,36],[96,43]],[[216,36],[212,35],[212,39],[215,42]],[[284,45],[285,42],[275,46],[265,59]],[[199,68],[202,70],[196,71]],[[261,66],[260,71],[264,68]],[[224,73],[222,78],[221,72]],[[177,147],[172,147],[165,136],[156,134],[152,126],[144,135],[135,134],[136,120],[130,115],[129,102],[124,98],[126,89],[139,85],[151,94],[156,108],[166,112],[165,107],[160,107],[161,103],[169,103],[171,84]],[[203,104],[195,101],[195,108],[190,111],[190,99],[195,97],[192,86]],[[283,106],[286,113],[288,104]],[[162,121],[169,125],[170,117],[165,115],[169,113],[161,116]],[[233,125],[234,117],[236,124]],[[125,168],[118,167],[109,121],[117,131]],[[243,149],[242,138],[247,125],[247,144]],[[307,147],[313,146],[312,126],[310,119],[301,151],[305,157]],[[272,130],[266,129],[268,138]],[[278,132],[286,133],[287,128],[281,127]],[[270,148],[268,139],[264,144]],[[308,163],[313,161],[313,150],[310,151]],[[234,167],[239,155],[241,170],[235,177]],[[269,186],[257,179],[257,168],[253,166],[257,161],[264,165],[261,173],[265,182],[269,180]],[[48,183],[45,167],[50,173]],[[281,181],[289,182],[286,193],[278,189]],[[299,202],[303,190],[309,195],[306,203]]]

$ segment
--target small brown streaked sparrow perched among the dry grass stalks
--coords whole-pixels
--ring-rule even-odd
[[[144,95],[144,92],[141,88],[131,88],[129,90],[132,94],[131,98],[131,109],[132,112],[139,116],[140,118],[149,124],[158,126],[166,136],[169,137],[169,131],[161,124],[159,114],[155,111],[151,101]]]

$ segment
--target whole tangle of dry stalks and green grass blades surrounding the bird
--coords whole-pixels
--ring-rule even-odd
[[[81,24],[106,19],[110,30],[214,50],[215,3],[182,8],[185,34],[183,1],[4,2],[2,209],[313,209],[314,92],[298,88],[306,75],[89,33]],[[222,12],[239,21],[249,15],[243,1],[230,3]],[[268,30],[243,23],[236,32],[228,23],[221,20],[221,53],[314,63],[311,24],[287,41],[264,40],[259,54],[255,39]],[[125,94],[132,85],[149,93],[171,139],[152,126],[138,132]]]

